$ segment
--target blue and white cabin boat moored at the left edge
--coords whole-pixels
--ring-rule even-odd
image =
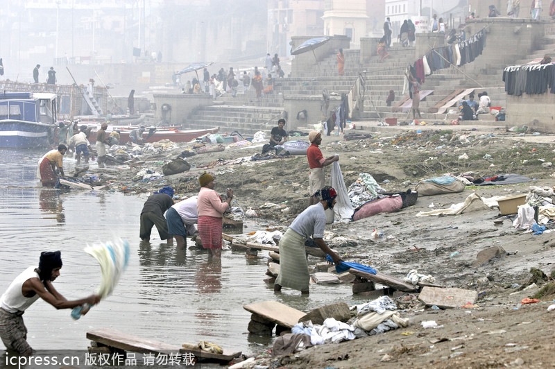
[[[56,94],[0,93],[0,147],[50,146],[56,128]]]

